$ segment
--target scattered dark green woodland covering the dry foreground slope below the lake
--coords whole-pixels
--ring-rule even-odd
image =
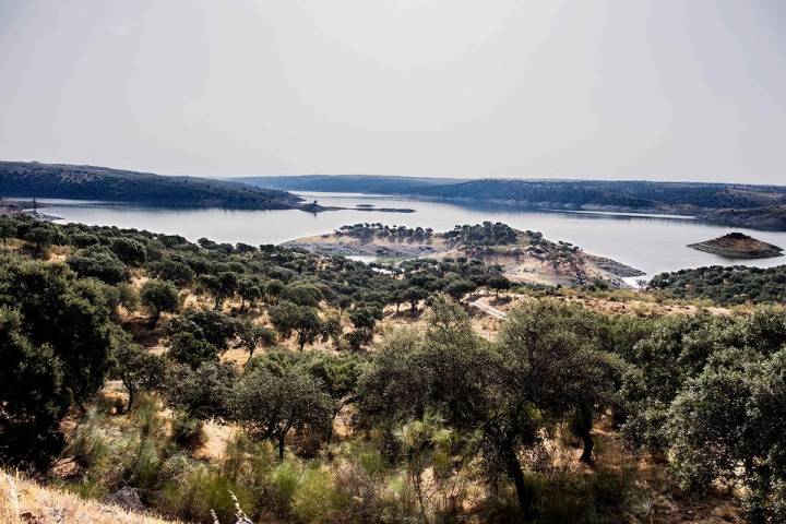
[[[7,472],[184,522],[786,522],[781,307],[610,314],[499,297],[511,283],[468,257],[0,233]]]

